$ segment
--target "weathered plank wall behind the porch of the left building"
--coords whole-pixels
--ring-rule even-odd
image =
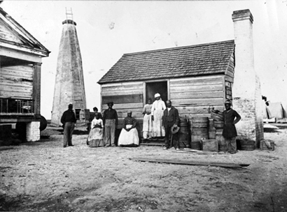
[[[0,97],[32,99],[33,66],[7,66],[0,69]]]

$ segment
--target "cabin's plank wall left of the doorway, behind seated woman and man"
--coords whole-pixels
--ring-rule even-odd
[[[144,107],[144,82],[123,82],[102,85],[102,112],[108,109],[106,103],[113,101],[113,109],[118,112],[118,128],[123,128],[127,111],[137,120],[137,130],[141,136]]]

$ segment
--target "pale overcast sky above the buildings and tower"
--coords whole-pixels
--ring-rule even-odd
[[[42,43],[41,114],[50,119],[66,8],[83,60],[87,108],[100,108],[99,79],[125,53],[234,39],[232,12],[254,17],[255,71],[262,95],[287,105],[287,1],[3,1],[1,8]]]

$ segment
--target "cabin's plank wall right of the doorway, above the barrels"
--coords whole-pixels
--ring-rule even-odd
[[[223,111],[225,100],[224,75],[169,79],[172,105],[181,118],[210,117],[210,109]]]

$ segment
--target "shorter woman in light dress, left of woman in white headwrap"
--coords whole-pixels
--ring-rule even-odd
[[[151,120],[151,98],[148,98],[148,104],[144,105],[144,126],[143,126],[143,137],[144,139],[150,139],[153,137],[153,121]]]

